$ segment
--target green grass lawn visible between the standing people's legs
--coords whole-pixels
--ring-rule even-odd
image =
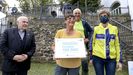
[[[28,75],[54,75],[54,63],[32,63]],[[0,75],[1,72],[0,72]],[[89,66],[89,75],[95,75],[92,65]],[[128,75],[127,70],[117,72],[116,75]]]

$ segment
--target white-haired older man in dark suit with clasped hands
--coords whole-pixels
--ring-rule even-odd
[[[0,41],[4,56],[2,75],[27,75],[36,44],[34,34],[27,30],[28,18],[17,18],[17,28],[6,29]]]

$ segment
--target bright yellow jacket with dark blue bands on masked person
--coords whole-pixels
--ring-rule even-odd
[[[120,44],[117,27],[108,24],[104,28],[101,23],[94,27],[90,49],[92,55],[103,59],[116,59],[118,62],[120,60]]]

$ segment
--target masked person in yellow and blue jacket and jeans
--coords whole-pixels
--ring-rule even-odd
[[[109,11],[102,9],[99,12],[100,24],[94,27],[90,42],[90,63],[93,63],[96,75],[104,75],[104,68],[106,75],[115,75],[116,68],[122,69],[118,28],[109,23],[109,17]]]

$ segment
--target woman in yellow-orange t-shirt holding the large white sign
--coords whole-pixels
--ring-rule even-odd
[[[73,15],[65,17],[65,29],[57,31],[55,38],[84,38],[80,31],[74,30],[75,18]],[[54,45],[52,46],[54,51]],[[55,75],[79,75],[81,58],[58,58],[56,60]]]

